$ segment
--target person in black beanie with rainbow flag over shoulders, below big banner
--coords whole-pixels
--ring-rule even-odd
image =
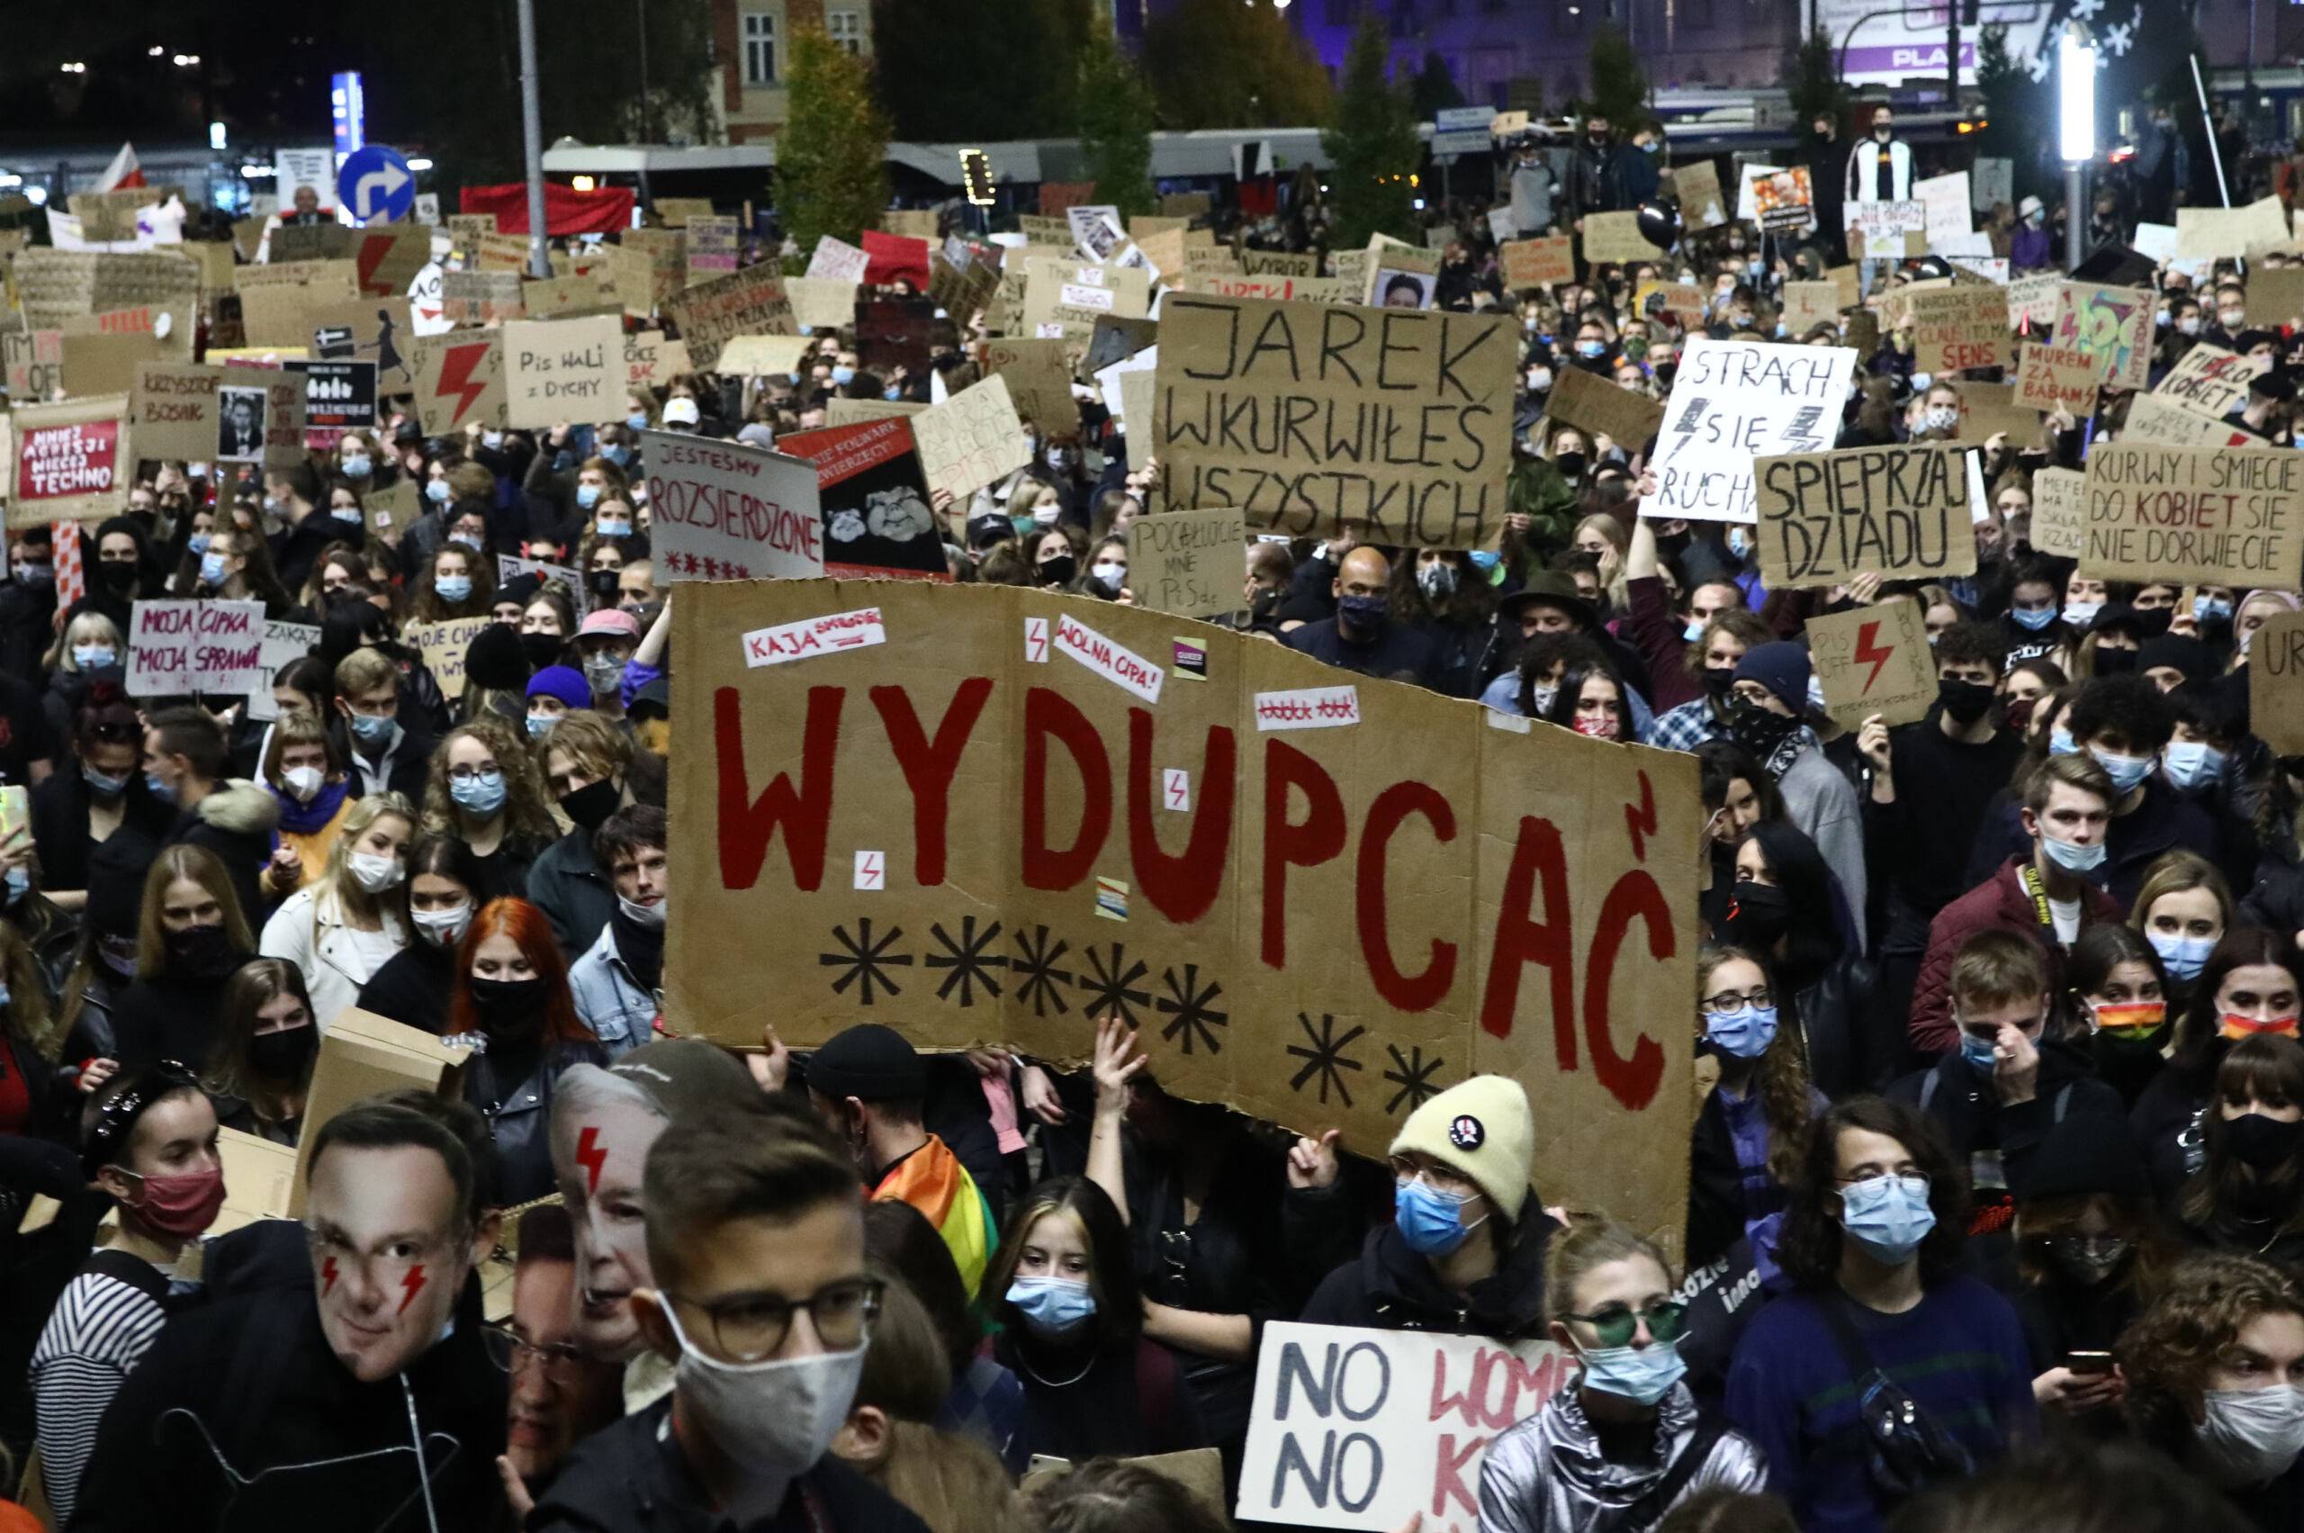
[[[896,1028],[864,1021],[818,1049],[804,1074],[816,1116],[848,1146],[871,1196],[917,1208],[975,1296],[1000,1226],[968,1166],[922,1123],[929,1067],[919,1051]]]

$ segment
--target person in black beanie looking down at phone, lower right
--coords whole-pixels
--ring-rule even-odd
[[[2032,1349],[2032,1399],[2090,1436],[2115,1436],[2122,1383],[2094,1353],[2113,1351],[2184,1249],[2124,1118],[2064,1118],[2011,1180],[2016,1263],[1998,1286]]]

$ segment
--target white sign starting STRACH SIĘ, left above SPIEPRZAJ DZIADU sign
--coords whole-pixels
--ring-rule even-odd
[[[1855,364],[1846,346],[1689,339],[1640,514],[1753,521],[1753,456],[1829,447]]]

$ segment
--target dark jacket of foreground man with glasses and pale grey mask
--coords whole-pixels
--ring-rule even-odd
[[[929,1533],[829,1452],[793,1482],[774,1517],[737,1526],[670,1441],[670,1397],[659,1399],[578,1443],[528,1515],[528,1533]]]

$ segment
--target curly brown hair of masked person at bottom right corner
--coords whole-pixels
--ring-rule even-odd
[[[2267,1314],[2304,1319],[2304,1289],[2260,1256],[2203,1252],[2120,1335],[2113,1353],[2129,1381],[2136,1436],[2170,1457],[2191,1443],[2207,1376],[2230,1358],[2239,1332]]]

